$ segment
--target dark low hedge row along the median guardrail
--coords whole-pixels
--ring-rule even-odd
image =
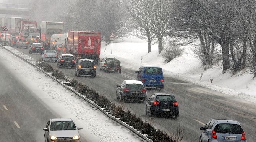
[[[64,79],[65,75],[58,70],[53,69],[51,65],[46,63],[40,63],[38,65],[44,71],[52,72],[52,75],[57,79]],[[129,110],[125,111],[122,107],[116,106],[114,103],[109,101],[105,96],[99,95],[95,90],[90,89],[87,85],[77,82],[75,79],[71,80],[71,84],[74,89],[81,93],[86,98],[92,100],[101,108],[108,109],[110,113],[116,118],[120,118],[123,122],[128,122],[130,126],[134,129],[137,129],[142,134],[147,134],[149,139],[153,142],[178,142],[176,138],[168,136],[165,132],[155,129],[150,123],[143,121],[141,118],[137,117],[135,114],[132,114]]]

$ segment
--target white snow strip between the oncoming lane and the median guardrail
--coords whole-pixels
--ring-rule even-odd
[[[43,101],[50,110],[62,118],[72,118],[79,127],[80,134],[89,142],[140,142],[138,137],[109,118],[99,110],[74,95],[73,92],[59,85],[44,73],[0,47],[0,62],[15,74],[36,97]],[[7,64],[6,64],[7,63]],[[15,65],[15,66],[13,66]],[[45,120],[46,125],[47,120]],[[43,132],[42,132],[43,137]]]

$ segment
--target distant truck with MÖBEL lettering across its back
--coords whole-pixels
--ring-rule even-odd
[[[19,33],[20,37],[27,38],[31,35],[33,38],[39,36],[39,28],[37,28],[36,21],[21,21],[20,25],[21,32]]]

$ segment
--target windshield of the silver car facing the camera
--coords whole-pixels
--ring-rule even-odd
[[[60,130],[76,130],[76,126],[73,121],[57,121],[51,123],[50,131]]]

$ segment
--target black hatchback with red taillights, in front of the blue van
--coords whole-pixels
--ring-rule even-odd
[[[178,102],[173,95],[156,93],[150,96],[146,103],[146,115],[169,115],[179,117]]]

